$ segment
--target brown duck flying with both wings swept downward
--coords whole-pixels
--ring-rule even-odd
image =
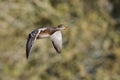
[[[62,30],[67,30],[69,27],[59,24],[58,26],[46,26],[39,29],[35,29],[28,34],[26,43],[26,58],[28,59],[31,48],[37,39],[43,39],[50,37],[53,47],[57,53],[61,53],[62,49]]]

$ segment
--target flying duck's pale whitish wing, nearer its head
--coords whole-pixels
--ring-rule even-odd
[[[53,43],[53,46],[54,46],[55,50],[58,53],[61,53],[61,49],[62,49],[62,34],[61,34],[61,31],[56,31],[50,37],[51,37],[51,40],[52,40],[52,43]]]

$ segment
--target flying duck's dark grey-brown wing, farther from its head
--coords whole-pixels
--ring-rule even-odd
[[[34,41],[36,40],[38,32],[39,32],[38,30],[35,30],[28,35],[28,39],[27,39],[27,43],[26,43],[26,57],[27,58],[29,56],[32,45],[33,45]]]

